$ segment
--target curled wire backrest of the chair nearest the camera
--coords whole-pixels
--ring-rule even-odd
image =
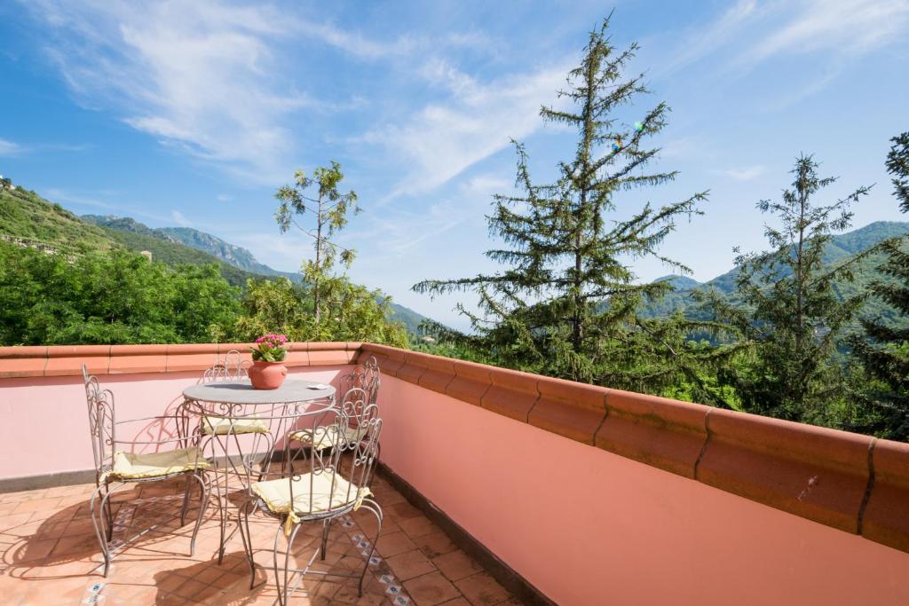
[[[331,512],[364,496],[356,491],[365,490],[372,479],[379,432],[382,430],[379,409],[375,403],[368,402],[368,399],[368,392],[353,387],[345,392],[340,404],[326,410],[325,414],[330,415],[333,421],[325,418],[320,420],[322,422],[317,422],[315,440],[330,442],[331,448],[313,449],[310,452],[306,465],[308,469],[305,470],[310,473],[308,486],[306,481],[300,482],[301,473],[290,475],[291,502],[295,502],[295,490],[297,493],[308,490],[312,495],[309,513],[313,512],[316,505]],[[356,428],[354,440],[345,432],[350,427]],[[324,433],[320,435],[321,432]],[[320,479],[319,476],[323,477]],[[346,482],[338,482],[339,479]]]

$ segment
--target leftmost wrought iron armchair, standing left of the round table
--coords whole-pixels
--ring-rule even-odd
[[[189,554],[195,553],[195,537],[205,516],[208,504],[210,484],[205,477],[209,462],[197,446],[189,446],[187,441],[187,419],[183,414],[160,415],[141,419],[117,421],[115,418],[114,393],[102,390],[98,380],[88,374],[85,364],[82,366],[85,380],[85,400],[88,404],[88,425],[91,432],[92,454],[95,457],[95,492],[92,493],[90,510],[95,535],[101,546],[105,560],[104,576],[110,571],[112,560],[111,541],[114,539],[114,514],[111,506],[111,495],[114,491],[130,482],[160,482],[177,476],[184,476],[186,487],[183,507],[180,510],[180,525],[186,521],[193,482],[198,482],[202,492],[199,504],[199,515],[195,521],[193,537],[189,543]],[[117,432],[135,423],[161,423],[156,429],[165,432],[165,423],[170,424],[177,433],[176,437],[164,440],[117,440]],[[161,451],[160,447],[175,444],[176,448]],[[118,450],[118,446],[157,447],[156,452],[132,452]]]

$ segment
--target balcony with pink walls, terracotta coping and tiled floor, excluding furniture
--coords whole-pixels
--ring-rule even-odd
[[[80,365],[137,417],[241,348],[0,348],[6,602],[275,600],[270,571],[248,590],[238,536],[216,565],[211,510],[187,557],[182,484],[122,499],[117,514],[145,533],[125,536],[109,578],[93,572]],[[909,603],[909,444],[368,343],[296,343],[286,364],[329,382],[366,355],[383,373],[375,492],[388,517],[363,603],[392,603],[390,580],[415,604]],[[352,522],[325,566],[362,557],[352,538],[366,522]],[[273,537],[254,530],[266,565]],[[307,578],[292,603],[355,601],[355,583]]]

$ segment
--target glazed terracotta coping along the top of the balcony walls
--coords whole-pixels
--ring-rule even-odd
[[[247,343],[0,347],[0,378],[200,371]],[[288,366],[382,373],[543,431],[909,551],[909,444],[373,343],[291,343]],[[0,382],[0,387],[3,383]]]

